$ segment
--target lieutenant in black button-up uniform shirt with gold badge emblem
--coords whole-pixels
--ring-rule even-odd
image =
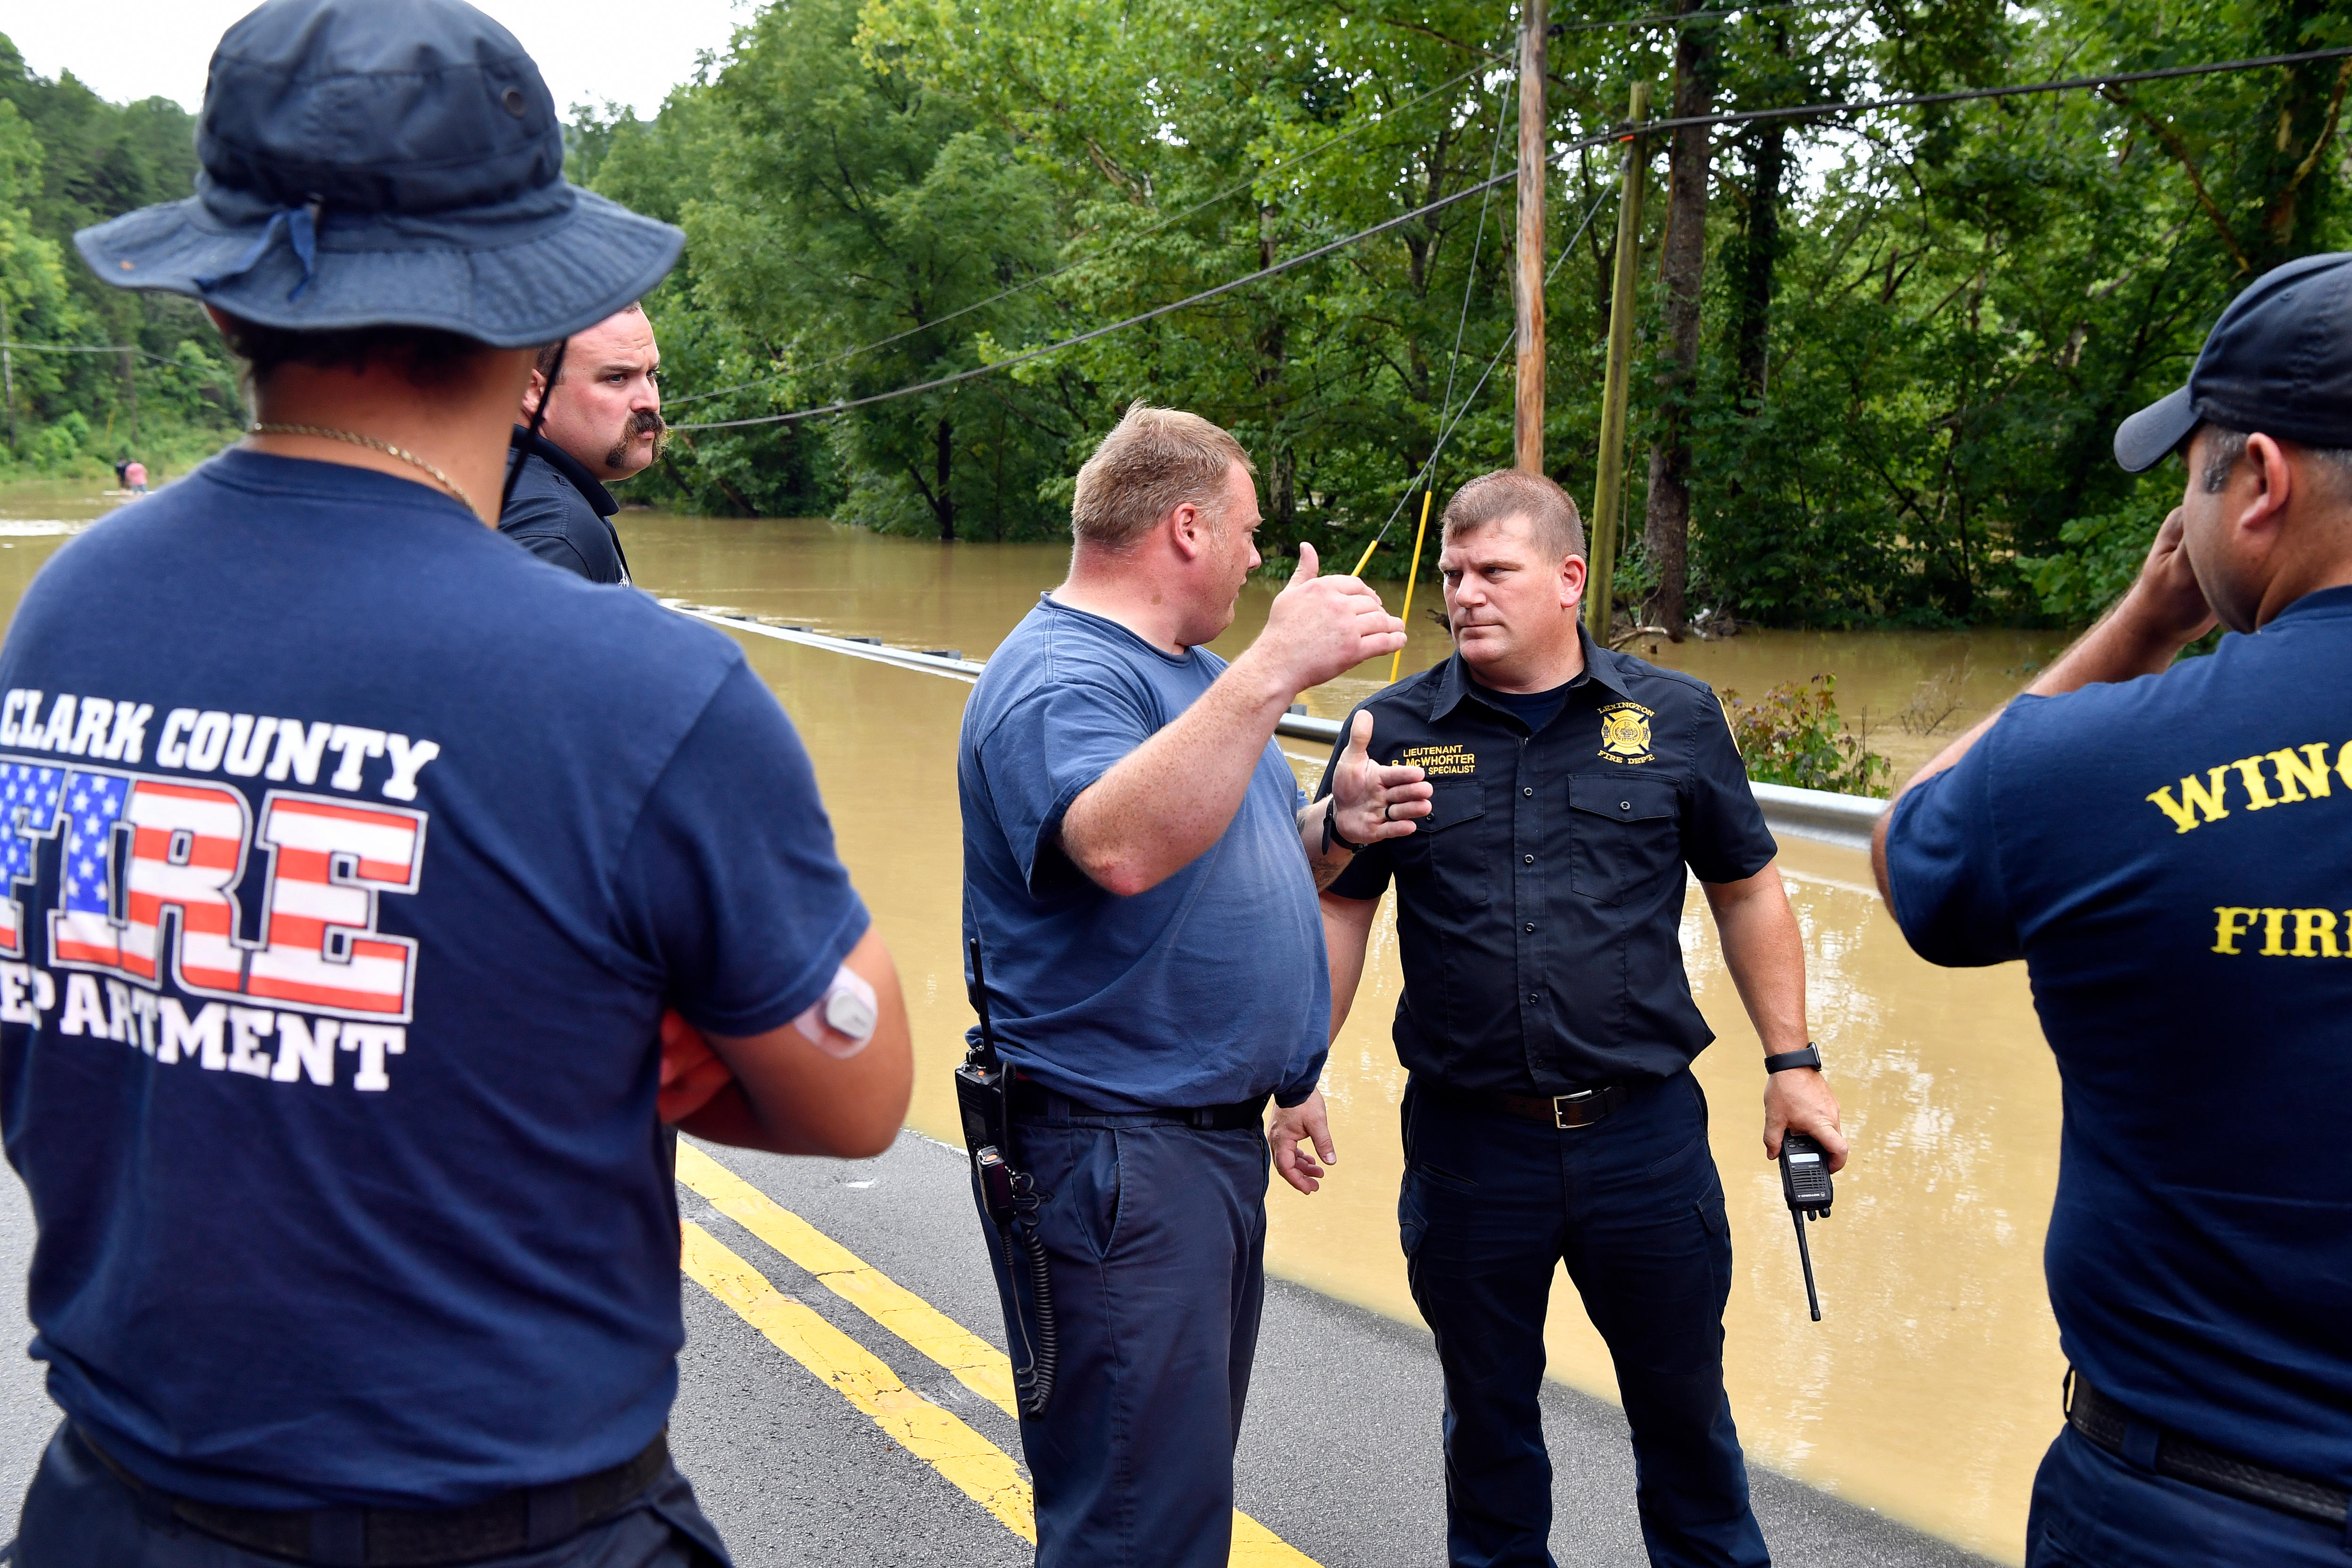
[[[1456,656],[1350,715],[1334,769],[1418,764],[1404,837],[1324,893],[1331,1030],[1397,884],[1404,1192],[1414,1302],[1446,1382],[1456,1568],[1548,1566],[1543,1312],[1566,1260],[1616,1361],[1651,1563],[1766,1563],[1724,1394],[1724,1190],[1689,1063],[1712,1032],[1677,938],[1684,867],[1766,1051],[1764,1152],[1820,1138],[1837,1100],[1804,1027],[1804,947],[1715,693],[1578,628],[1585,543],[1541,475],[1491,473],[1446,505],[1439,571]],[[1331,773],[1324,773],[1324,790]],[[1319,1105],[1270,1131],[1291,1185]],[[1319,1140],[1329,1152],[1327,1135]]]

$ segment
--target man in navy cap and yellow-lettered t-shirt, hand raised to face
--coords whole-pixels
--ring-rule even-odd
[[[1936,964],[2025,959],[2065,1081],[2025,1561],[2343,1568],[2352,254],[2256,280],[2114,435],[2173,451],[2138,581],[1896,797],[1879,889]]]

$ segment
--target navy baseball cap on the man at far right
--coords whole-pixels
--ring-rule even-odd
[[[2114,461],[2154,468],[2199,423],[2352,447],[2352,254],[2305,256],[2263,273],[2230,301],[2190,383],[2122,423]]]

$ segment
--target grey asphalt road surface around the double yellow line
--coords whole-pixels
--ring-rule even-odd
[[[903,1133],[873,1161],[781,1159],[713,1150],[734,1173],[816,1225],[896,1284],[1002,1347],[962,1154]],[[748,1229],[680,1190],[684,1218],[880,1356],[906,1387],[1018,1458],[1014,1422],[823,1288]],[[0,1269],[24,1279],[33,1225],[24,1187],[0,1180]],[[21,1291],[7,1324],[31,1338]],[[818,1382],[734,1309],[684,1284],[670,1446],[741,1568],[1016,1568],[1030,1549]],[[1270,1284],[1237,1505],[1322,1568],[1444,1563],[1439,1382],[1430,1338],[1312,1291]],[[1548,1385],[1555,1467],[1552,1554],[1578,1568],[1639,1568],[1625,1418]],[[40,1368],[0,1361],[0,1495],[33,1476],[56,1425]],[[1980,1563],[1877,1514],[1755,1469],[1755,1505],[1783,1563],[1957,1568]],[[5,1507],[5,1505],[0,1505]]]

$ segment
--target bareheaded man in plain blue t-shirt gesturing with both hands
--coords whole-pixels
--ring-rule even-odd
[[[1209,421],[1129,409],[1077,470],[1068,581],[964,708],[964,931],[1061,1324],[1051,1401],[1021,1420],[1040,1568],[1225,1566],[1265,1138],[1331,1154],[1315,886],[1348,842],[1428,811],[1421,769],[1364,759],[1369,717],[1331,806],[1272,745],[1298,691],[1404,646],[1378,595],[1315,576],[1312,545],[1247,654],[1202,646],[1258,567],[1251,473]],[[1261,1133],[1268,1095],[1284,1110]],[[1021,1347],[1028,1288],[990,1258]]]

